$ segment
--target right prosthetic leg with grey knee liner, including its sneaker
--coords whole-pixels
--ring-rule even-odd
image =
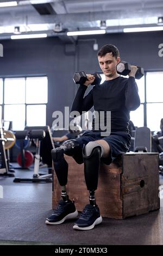
[[[102,222],[102,216],[96,204],[95,190],[97,190],[98,170],[103,153],[104,148],[96,142],[87,143],[83,149],[84,175],[87,190],[90,191],[90,204],[85,206],[80,218],[74,223],[74,229],[90,230]]]

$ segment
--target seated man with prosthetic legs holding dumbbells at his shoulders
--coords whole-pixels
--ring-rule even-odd
[[[135,83],[137,67],[131,66],[129,78],[118,75],[116,65],[120,62],[120,53],[114,45],[104,45],[99,50],[98,62],[105,75],[104,83],[94,86],[84,97],[87,87],[95,80],[93,75],[87,75],[87,81],[79,86],[71,111],[78,111],[82,114],[83,111],[89,111],[94,106],[96,113],[104,112],[102,119],[104,124],[107,124],[106,112],[110,111],[111,133],[109,136],[105,133],[106,136],[104,136],[100,128],[96,130],[97,119],[101,121],[100,115],[97,115],[92,121],[92,131],[85,131],[82,137],[66,141],[62,147],[53,150],[54,169],[61,185],[63,200],[59,202],[53,215],[47,218],[47,224],[60,224],[78,215],[74,203],[66,193],[68,164],[64,159],[64,153],[73,156],[78,163],[84,162],[84,175],[87,190],[90,192],[90,204],[85,206],[73,228],[89,230],[102,222],[95,198],[100,161],[110,164],[118,155],[126,153],[130,147],[129,113],[140,106]]]

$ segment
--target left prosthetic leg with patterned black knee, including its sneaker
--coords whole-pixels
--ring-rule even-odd
[[[54,163],[55,173],[57,175],[59,184],[61,186],[61,197],[63,200],[59,201],[57,209],[54,210],[53,214],[46,218],[46,224],[56,225],[61,224],[65,220],[70,220],[78,216],[78,211],[72,202],[68,198],[66,192],[67,176],[68,176],[68,163],[64,158],[64,153],[73,156],[77,160],[82,160],[82,149],[79,147],[79,143],[76,139],[70,139],[66,141],[59,148],[52,150],[52,159]],[[77,156],[77,153],[79,154]],[[78,159],[80,157],[80,159]],[[79,161],[79,162],[80,162]]]

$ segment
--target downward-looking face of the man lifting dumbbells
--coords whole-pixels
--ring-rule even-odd
[[[98,56],[98,62],[107,80],[107,78],[114,77],[117,74],[116,65],[118,64],[118,62],[120,62],[120,57],[117,57],[116,59],[112,56],[112,53],[109,52],[106,53],[103,57]]]

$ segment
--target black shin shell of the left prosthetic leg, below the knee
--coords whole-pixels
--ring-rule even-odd
[[[61,186],[66,186],[68,176],[68,163],[64,158],[64,149],[61,147],[52,149],[52,159],[59,184]]]

